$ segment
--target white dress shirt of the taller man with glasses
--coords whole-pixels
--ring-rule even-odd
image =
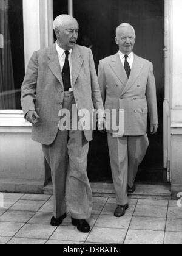
[[[62,69],[64,67],[64,62],[65,62],[65,58],[66,58],[66,55],[65,55],[65,50],[62,49],[59,45],[58,45],[58,42],[56,41],[56,50],[58,52],[58,59],[59,59],[59,64],[60,64],[60,67],[61,67],[61,73],[62,73]],[[71,79],[71,85],[72,85],[72,88],[69,89],[69,91],[73,91],[73,83],[72,83],[72,49],[69,50],[69,65],[70,65],[70,79]]]

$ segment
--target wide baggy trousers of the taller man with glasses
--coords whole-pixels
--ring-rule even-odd
[[[64,94],[62,109],[68,109],[72,119],[73,93]],[[58,130],[55,141],[42,145],[52,171],[54,216],[69,211],[75,219],[89,219],[92,213],[92,190],[87,177],[89,143],[81,130]]]

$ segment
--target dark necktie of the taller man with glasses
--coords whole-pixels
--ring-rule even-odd
[[[64,85],[64,91],[69,91],[69,89],[72,87],[71,86],[71,79],[70,79],[70,65],[69,65],[69,51],[64,52],[66,57],[65,57],[65,62],[64,66],[62,69],[62,80],[63,80],[63,85]]]

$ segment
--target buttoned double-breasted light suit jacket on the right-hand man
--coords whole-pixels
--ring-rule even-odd
[[[124,136],[145,135],[147,113],[158,124],[153,65],[134,54],[129,79],[119,54],[99,62],[98,81],[105,109],[124,109]],[[112,133],[112,129],[109,131]]]

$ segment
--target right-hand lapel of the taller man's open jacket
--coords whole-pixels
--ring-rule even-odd
[[[78,78],[83,59],[78,48],[75,46],[72,51],[72,83],[75,85],[76,79]]]

